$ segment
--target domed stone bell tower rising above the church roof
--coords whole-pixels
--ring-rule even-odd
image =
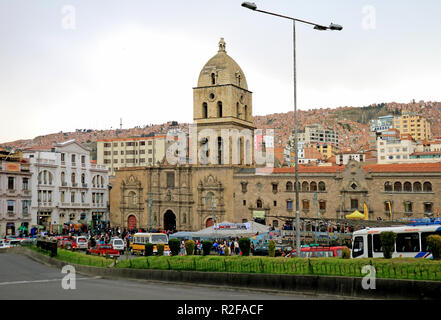
[[[198,133],[198,164],[243,166],[253,163],[252,92],[245,74],[227,55],[223,38],[217,54],[202,68],[193,88],[193,120]]]

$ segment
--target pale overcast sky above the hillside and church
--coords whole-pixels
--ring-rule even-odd
[[[199,72],[226,41],[254,115],[293,109],[292,24],[242,0],[0,0],[0,142],[192,122]],[[300,109],[441,101],[439,0],[261,0],[297,25]]]

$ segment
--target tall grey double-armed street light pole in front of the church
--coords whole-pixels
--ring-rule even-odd
[[[319,31],[325,31],[325,30],[332,30],[332,31],[341,31],[343,30],[343,27],[341,25],[331,23],[329,26],[323,26],[317,23],[305,21],[296,19],[293,17],[284,16],[281,14],[268,12],[264,10],[258,10],[257,5],[254,2],[243,2],[242,7],[245,7],[247,9],[270,14],[273,16],[277,16],[280,18],[289,19],[292,21],[293,26],[293,60],[294,60],[294,150],[295,150],[295,195],[296,195],[296,247],[297,247],[297,255],[300,256],[300,210],[299,210],[299,159],[298,159],[298,146],[297,146],[297,73],[296,73],[296,21],[313,25],[314,30]]]

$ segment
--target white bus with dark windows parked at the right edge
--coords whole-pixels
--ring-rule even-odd
[[[392,231],[397,234],[392,258],[431,258],[427,249],[427,237],[441,235],[441,225],[410,225],[387,228],[366,228],[352,234],[352,258],[383,258],[380,233]]]

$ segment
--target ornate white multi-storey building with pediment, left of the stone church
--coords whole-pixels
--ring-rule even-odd
[[[64,224],[109,221],[108,168],[90,162],[90,150],[69,140],[23,151],[31,164],[32,225],[61,232]]]

